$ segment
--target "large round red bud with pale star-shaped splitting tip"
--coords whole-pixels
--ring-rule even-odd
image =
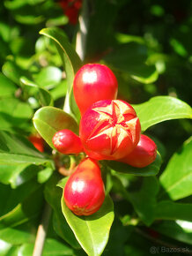
[[[116,160],[129,154],[140,139],[141,126],[127,102],[100,101],[86,110],[80,122],[85,153],[97,160]]]

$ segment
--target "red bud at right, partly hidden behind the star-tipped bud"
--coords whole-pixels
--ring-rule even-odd
[[[157,146],[155,142],[146,135],[141,134],[137,147],[130,154],[118,161],[128,163],[137,168],[143,168],[154,162],[156,155]]]

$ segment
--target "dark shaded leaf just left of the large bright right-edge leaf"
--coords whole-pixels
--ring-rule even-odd
[[[154,207],[156,205],[156,196],[158,192],[158,179],[156,177],[144,177],[141,189],[138,192],[129,193],[129,199],[133,204],[137,215],[148,226],[154,218]]]

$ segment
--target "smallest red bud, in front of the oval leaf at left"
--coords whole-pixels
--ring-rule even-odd
[[[56,132],[52,141],[56,150],[62,154],[79,154],[83,152],[80,138],[70,130],[63,129]]]

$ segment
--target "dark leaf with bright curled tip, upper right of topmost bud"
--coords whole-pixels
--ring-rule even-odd
[[[158,79],[155,66],[147,65],[147,49],[144,44],[131,41],[114,49],[104,60],[114,68],[126,72],[132,79],[149,84]]]

